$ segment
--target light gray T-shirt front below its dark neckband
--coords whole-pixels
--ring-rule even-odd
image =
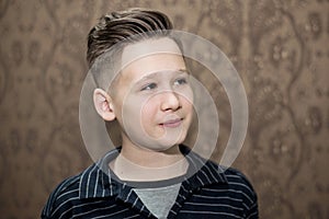
[[[179,194],[181,183],[156,188],[134,188],[144,205],[157,218],[167,218]]]

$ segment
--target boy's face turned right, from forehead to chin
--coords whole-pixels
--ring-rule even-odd
[[[163,151],[181,143],[192,122],[193,92],[178,45],[170,38],[136,43],[124,48],[122,64],[128,65],[111,97],[123,145]]]

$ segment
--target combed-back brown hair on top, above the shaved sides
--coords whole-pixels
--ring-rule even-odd
[[[171,21],[159,11],[129,9],[103,15],[88,35],[87,60],[89,68],[98,57],[117,43],[138,42],[143,38],[155,37],[155,35],[166,36],[169,30],[172,30]],[[151,36],[149,33],[156,34]]]

